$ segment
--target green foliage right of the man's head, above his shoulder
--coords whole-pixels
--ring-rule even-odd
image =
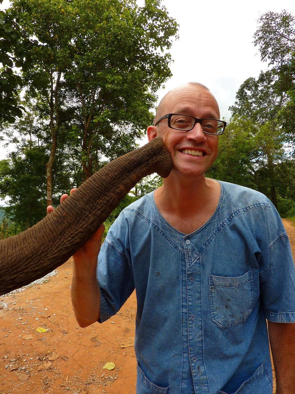
[[[282,216],[295,206],[295,17],[286,11],[262,15],[254,35],[262,60],[274,65],[248,78],[229,109],[211,177],[247,186],[271,199]]]

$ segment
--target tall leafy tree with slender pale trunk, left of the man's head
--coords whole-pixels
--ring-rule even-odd
[[[160,0],[16,0],[21,37],[31,66],[22,76],[32,97],[48,104],[52,148],[47,169],[47,204],[52,204],[52,168],[61,121],[71,113],[68,137],[81,145],[83,178],[101,160],[103,145],[126,150],[151,121],[155,91],[171,75],[171,37],[177,24]],[[19,61],[23,60],[20,54]],[[132,138],[131,138],[132,136]],[[116,151],[114,145],[112,152]]]

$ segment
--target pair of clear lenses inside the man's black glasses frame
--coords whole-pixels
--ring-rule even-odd
[[[170,126],[177,130],[190,130],[195,123],[195,119],[187,115],[172,115]],[[224,125],[221,121],[212,119],[202,119],[201,126],[206,133],[220,134]]]

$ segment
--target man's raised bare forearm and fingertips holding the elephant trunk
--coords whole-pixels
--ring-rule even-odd
[[[75,191],[76,188],[72,189],[70,194]],[[61,203],[66,198],[68,195],[63,194]],[[53,210],[53,206],[47,207],[48,214]],[[104,230],[105,226],[102,224],[90,240],[73,255],[72,304],[77,322],[81,327],[87,327],[100,318],[100,289],[96,279],[96,266]]]

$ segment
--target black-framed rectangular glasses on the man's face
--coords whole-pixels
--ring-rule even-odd
[[[200,123],[205,134],[218,136],[223,134],[227,125],[226,122],[218,119],[198,119],[193,116],[183,115],[182,113],[167,113],[155,123],[155,126],[164,119],[168,119],[168,127],[174,128],[175,130],[189,131],[195,127],[196,123]]]

